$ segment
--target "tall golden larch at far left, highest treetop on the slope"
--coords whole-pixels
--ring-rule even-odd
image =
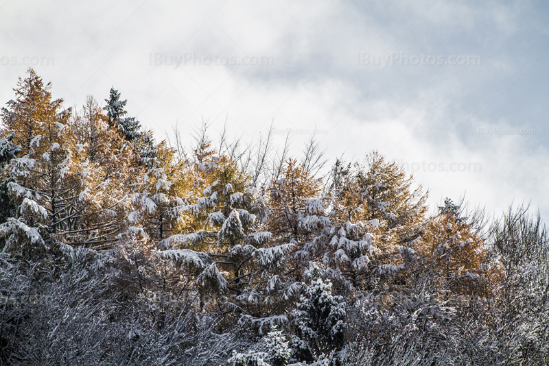
[[[71,110],[62,110],[62,99],[52,101],[49,88],[30,69],[25,80],[19,79],[16,100],[2,109],[3,125],[21,147],[5,168],[17,206],[16,217],[1,228],[8,246],[24,246],[25,241],[15,240],[24,237],[22,232],[32,244],[63,241],[62,233],[78,224],[82,212],[83,169],[70,134]]]

